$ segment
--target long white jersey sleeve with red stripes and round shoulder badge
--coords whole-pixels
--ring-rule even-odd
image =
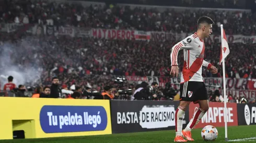
[[[178,66],[179,51],[181,49],[192,49],[194,47],[194,40],[192,36],[188,36],[171,48],[171,66]]]

